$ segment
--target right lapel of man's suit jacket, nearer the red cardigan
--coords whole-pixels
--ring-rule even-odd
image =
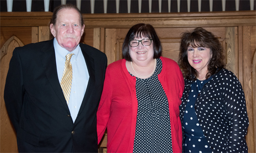
[[[94,67],[94,59],[87,54],[86,52],[86,47],[84,47],[83,45],[80,44],[81,47],[81,51],[84,57],[84,60],[86,60],[86,65],[87,65],[87,69],[89,72],[89,81],[88,81],[88,85],[87,85],[87,89],[86,89],[86,93],[84,94],[83,100],[82,100],[82,104],[81,107],[79,109],[79,112],[77,114],[77,117],[79,116],[79,114],[82,112],[82,110],[84,109],[84,107],[87,105],[89,105],[88,99],[90,99],[90,96],[92,96],[93,93],[93,89],[95,87],[95,67]]]

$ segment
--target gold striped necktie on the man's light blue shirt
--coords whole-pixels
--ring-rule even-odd
[[[72,85],[72,74],[73,74],[72,64],[70,63],[70,59],[72,55],[74,54],[66,55],[66,62],[65,62],[61,82],[60,82],[60,86],[62,88],[63,94],[65,96],[65,99],[68,105],[69,105],[69,97],[70,97],[70,91],[71,91],[71,85]]]

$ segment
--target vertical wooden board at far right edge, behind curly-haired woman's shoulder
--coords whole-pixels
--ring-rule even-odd
[[[251,44],[250,44],[250,31],[249,26],[243,27],[243,89],[246,99],[246,108],[247,114],[249,117],[249,127],[248,133],[246,135],[246,142],[248,146],[248,152],[255,152],[254,150],[254,125],[253,125],[253,105],[252,105],[252,81],[251,81],[251,72],[252,72],[252,61],[251,61]]]

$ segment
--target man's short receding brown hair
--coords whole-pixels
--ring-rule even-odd
[[[53,24],[53,25],[56,24],[57,17],[58,17],[58,12],[61,9],[75,9],[79,13],[79,15],[80,15],[81,26],[83,25],[83,18],[82,18],[82,14],[81,14],[80,10],[76,6],[74,6],[72,4],[60,5],[60,6],[56,7],[53,10],[53,14],[52,14],[52,18],[51,18],[50,24]]]

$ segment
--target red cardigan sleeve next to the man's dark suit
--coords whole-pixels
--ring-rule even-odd
[[[102,95],[100,98],[99,107],[97,111],[98,144],[105,132],[106,125],[108,124],[108,121],[110,118],[111,97],[112,97],[112,83],[111,83],[111,77],[110,77],[110,70],[108,67],[106,68],[103,91],[102,91]]]

